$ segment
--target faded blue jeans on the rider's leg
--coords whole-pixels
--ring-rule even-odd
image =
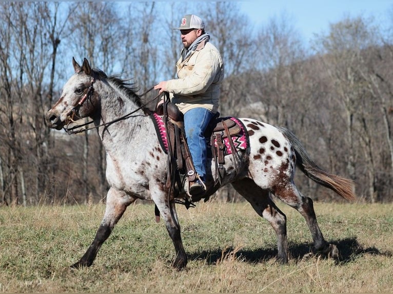
[[[206,176],[207,157],[207,146],[204,133],[213,116],[213,113],[202,107],[190,109],[184,114],[184,131],[186,132],[188,148],[191,153],[195,171],[203,181]]]

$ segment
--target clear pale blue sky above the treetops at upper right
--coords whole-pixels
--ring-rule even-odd
[[[346,15],[374,16],[377,22],[386,24],[392,22],[388,11],[393,14],[393,0],[255,0],[240,2],[240,7],[257,28],[272,18],[279,20],[285,13],[306,41],[315,33],[328,32],[329,24]]]

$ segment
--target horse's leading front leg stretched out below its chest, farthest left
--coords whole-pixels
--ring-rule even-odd
[[[114,188],[109,189],[104,218],[95,234],[95,238],[81,260],[71,267],[80,268],[82,266],[92,265],[101,245],[108,239],[113,227],[123,216],[127,206],[134,202],[135,199],[126,195],[123,191],[115,190]]]

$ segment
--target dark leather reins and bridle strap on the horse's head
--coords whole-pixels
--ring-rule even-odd
[[[88,100],[88,99],[90,98],[91,94],[92,94],[93,91],[94,91],[93,83],[94,83],[94,78],[91,79],[91,84],[90,84],[90,87],[89,87],[87,93],[82,97],[82,99],[78,102],[78,104],[71,110],[70,113],[72,113],[72,117],[75,115],[75,111],[76,111],[78,108],[80,108],[80,107],[82,106],[82,104],[83,104],[86,100]],[[150,92],[151,90],[153,90],[153,89],[154,89],[154,87],[151,87],[149,90],[147,90],[145,93],[143,93],[140,97],[145,96],[147,93],[149,93],[149,92]],[[115,122],[117,122],[117,121],[120,121],[120,120],[129,118],[132,114],[134,114],[135,112],[137,112],[137,111],[139,111],[139,110],[145,108],[145,107],[147,106],[147,104],[149,104],[150,102],[154,101],[154,100],[157,99],[158,97],[160,97],[160,95],[155,96],[153,99],[147,101],[145,104],[143,104],[141,107],[135,109],[134,111],[132,111],[132,112],[130,112],[130,113],[127,113],[126,115],[123,115],[123,116],[121,116],[121,117],[119,117],[119,118],[116,118],[116,119],[114,119],[114,120],[111,120],[111,121],[109,121],[109,122],[105,122],[105,123],[102,123],[102,124],[100,124],[100,125],[95,125],[94,127],[86,128],[86,129],[82,129],[82,128],[85,127],[86,125],[89,125],[89,124],[93,123],[94,121],[89,121],[89,122],[86,122],[86,123],[83,123],[83,124],[74,125],[74,126],[71,127],[71,128],[68,128],[68,124],[67,124],[67,126],[64,127],[63,129],[66,131],[66,133],[67,133],[68,135],[73,135],[73,134],[78,134],[78,133],[82,133],[82,132],[87,132],[87,131],[93,130],[93,129],[98,129],[98,128],[100,128],[100,127],[106,127],[107,125],[110,125],[110,124],[115,123]],[[72,118],[71,118],[71,120],[72,120]],[[77,130],[76,130],[76,129],[77,129]],[[76,130],[76,131],[75,131],[75,130]]]

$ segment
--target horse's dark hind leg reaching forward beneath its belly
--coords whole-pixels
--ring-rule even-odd
[[[242,195],[254,208],[254,210],[267,221],[276,231],[278,254],[277,259],[282,263],[288,262],[288,244],[286,216],[270,199],[269,192],[263,190],[251,179],[242,179],[232,183],[240,195]]]

